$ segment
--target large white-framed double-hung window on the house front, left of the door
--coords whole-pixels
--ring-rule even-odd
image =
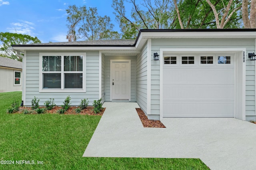
[[[40,53],[40,92],[85,92],[85,53]]]

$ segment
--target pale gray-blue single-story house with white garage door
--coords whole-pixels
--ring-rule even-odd
[[[149,119],[256,118],[256,29],[140,30],[136,40],[12,45],[22,99],[137,102]],[[154,60],[158,53],[159,60]],[[122,114],[122,113],[120,113]]]

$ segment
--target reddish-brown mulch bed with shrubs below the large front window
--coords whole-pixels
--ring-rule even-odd
[[[45,107],[40,107],[40,108],[45,108]],[[60,110],[62,107],[60,106],[54,106],[52,108],[52,110],[45,110],[45,113],[58,113],[58,110]],[[77,107],[75,106],[71,106],[65,113],[64,115],[78,115],[78,113],[75,112],[74,109],[76,109]],[[28,109],[29,111],[32,111],[31,107],[20,107],[20,110],[18,111],[18,113],[23,113],[24,109]],[[100,110],[100,113],[95,114],[94,111],[92,110],[93,106],[87,106],[86,109],[81,109],[80,115],[100,115],[102,116],[105,109],[103,108]],[[32,114],[37,114],[36,111],[34,111]]]

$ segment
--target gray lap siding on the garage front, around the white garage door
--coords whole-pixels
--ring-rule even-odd
[[[160,48],[246,48],[254,51],[255,39],[152,39],[152,53]],[[160,114],[160,61],[151,62],[151,114]],[[255,119],[255,61],[246,61],[246,120]]]

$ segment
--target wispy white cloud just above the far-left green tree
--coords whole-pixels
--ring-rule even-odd
[[[11,23],[11,27],[7,28],[9,32],[17,33],[17,34],[28,34],[30,36],[34,36],[33,27],[34,23],[20,20],[20,22]]]

